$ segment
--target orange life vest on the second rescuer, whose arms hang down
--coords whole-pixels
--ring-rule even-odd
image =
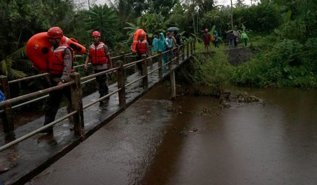
[[[93,65],[108,63],[104,46],[105,43],[99,42],[97,47],[94,43],[89,47],[90,59]]]

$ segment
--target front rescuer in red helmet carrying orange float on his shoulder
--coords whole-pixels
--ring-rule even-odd
[[[67,44],[61,43],[60,39],[63,37],[63,31],[59,27],[50,28],[47,36],[52,44],[52,47],[49,50],[48,59],[48,73],[51,74],[51,86],[62,85],[70,80],[69,75],[72,69],[73,58],[72,49]],[[63,94],[66,96],[68,101],[71,102],[69,86],[49,93],[44,125],[54,121]],[[53,127],[41,132],[53,134]]]

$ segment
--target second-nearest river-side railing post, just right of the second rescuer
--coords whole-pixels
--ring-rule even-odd
[[[124,109],[126,108],[126,102],[125,102],[125,87],[124,87],[124,70],[123,70],[123,62],[118,61],[116,62],[117,67],[117,83],[118,83],[118,88],[121,88],[121,90],[118,91],[118,97],[119,97],[119,106],[123,107]]]

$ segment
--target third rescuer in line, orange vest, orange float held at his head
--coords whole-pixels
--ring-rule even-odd
[[[151,57],[151,49],[149,47],[149,42],[147,40],[144,39],[145,37],[145,32],[141,32],[140,35],[139,35],[139,41],[137,43],[137,46],[136,46],[136,60],[141,60],[142,59],[142,55],[143,54],[146,54],[147,57]],[[131,50],[132,50],[132,45],[131,45]],[[150,59],[150,61],[152,61],[152,58]],[[139,62],[137,63],[137,67],[138,69],[141,71],[141,75],[142,74],[142,63]]]

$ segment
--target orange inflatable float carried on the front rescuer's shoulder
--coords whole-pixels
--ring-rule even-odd
[[[78,43],[74,38],[62,37],[60,39],[62,43],[69,45],[74,52],[82,55],[85,53],[86,48]],[[26,53],[33,63],[34,67],[40,71],[48,71],[48,57],[49,49],[52,47],[47,32],[42,32],[32,36],[26,43]]]

